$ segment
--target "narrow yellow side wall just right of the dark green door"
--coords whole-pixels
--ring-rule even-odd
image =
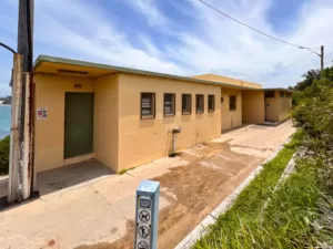
[[[117,170],[119,132],[118,75],[95,79],[94,93],[94,155],[98,160]]]

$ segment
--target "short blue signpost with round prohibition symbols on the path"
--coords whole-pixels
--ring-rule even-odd
[[[158,248],[160,183],[143,180],[137,189],[134,249]]]

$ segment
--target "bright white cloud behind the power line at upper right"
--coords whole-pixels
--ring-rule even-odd
[[[191,38],[183,37],[184,45],[178,48],[179,53],[175,51],[174,54],[191,61],[198,73],[225,74],[228,71],[224,69],[230,69],[228,74],[231,76],[243,75],[250,81],[261,79],[261,83],[265,83],[266,86],[287,86],[301,80],[301,75],[307,70],[320,66],[319,58],[314,55],[283,71],[283,68],[304,58],[309,52],[258,34],[200,4],[199,1],[189,2],[193,3],[198,11],[200,25],[198,33]],[[272,27],[268,24],[266,11],[271,1],[243,0],[225,3],[208,0],[208,2],[266,33],[309,46],[317,48],[325,44],[326,54],[332,52],[330,48],[330,44],[333,44],[333,34],[330,32],[332,1],[312,1],[305,4],[300,19],[295,20],[295,30],[287,32],[287,35],[274,33]]]

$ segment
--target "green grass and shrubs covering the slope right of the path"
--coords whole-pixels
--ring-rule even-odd
[[[294,87],[291,144],[193,248],[333,247],[333,68],[313,72]],[[273,191],[295,146],[303,152],[295,172]]]

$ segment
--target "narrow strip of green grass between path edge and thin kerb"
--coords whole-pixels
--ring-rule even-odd
[[[295,153],[302,136],[303,133],[299,129],[278,156],[264,165],[262,172],[239,195],[234,205],[218,218],[203,238],[196,241],[194,249],[248,248],[246,245],[253,243],[245,225],[259,217],[264,203],[269,197],[273,197],[273,188]],[[271,210],[270,207],[269,209]],[[242,238],[242,243],[240,238]]]

